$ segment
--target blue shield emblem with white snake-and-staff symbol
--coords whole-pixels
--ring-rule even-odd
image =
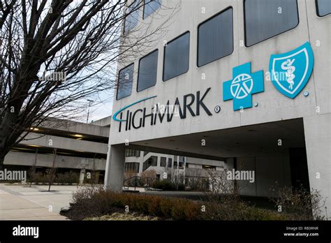
[[[272,54],[269,62],[272,84],[284,96],[295,98],[306,86],[313,66],[314,55],[309,42],[290,52]]]

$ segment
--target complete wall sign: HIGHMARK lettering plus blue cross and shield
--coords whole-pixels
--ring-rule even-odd
[[[281,94],[289,98],[295,98],[309,81],[313,66],[313,51],[307,42],[290,52],[272,54],[269,64],[270,72],[267,72],[267,76],[270,77],[272,84]],[[185,119],[188,112],[192,117],[196,117],[200,115],[200,108],[205,110],[207,115],[211,116],[212,112],[203,103],[203,99],[210,89],[208,88],[203,96],[200,95],[200,91],[197,91],[196,94],[186,94],[183,96],[182,103],[179,102],[178,97],[171,105],[169,100],[165,105],[156,103],[150,112],[146,108],[134,111],[128,110],[135,104],[156,98],[156,96],[147,97],[118,110],[112,119],[119,121],[119,132],[121,132],[122,123],[124,123],[125,131],[131,130],[131,128],[145,127],[146,124],[154,126],[158,122],[161,124],[163,120],[170,122],[176,116],[179,116],[180,119]],[[248,62],[235,66],[233,68],[233,79],[223,82],[223,101],[233,100],[233,110],[251,108],[253,94],[263,91],[263,71],[251,73],[251,62]],[[126,115],[125,119],[122,119],[124,110],[126,110]],[[219,105],[216,105],[214,111],[219,113],[220,110]]]

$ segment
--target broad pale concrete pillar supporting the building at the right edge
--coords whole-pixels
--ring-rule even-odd
[[[309,184],[321,190],[331,215],[331,114],[304,117]],[[323,209],[324,211],[324,209]],[[325,212],[323,212],[325,215]]]

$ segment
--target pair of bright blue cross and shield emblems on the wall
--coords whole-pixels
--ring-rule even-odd
[[[314,66],[313,50],[304,43],[295,50],[270,56],[267,73],[274,87],[295,98],[309,81]],[[263,71],[251,73],[251,63],[233,68],[233,80],[223,82],[223,101],[233,100],[233,110],[252,107],[252,95],[264,91]]]

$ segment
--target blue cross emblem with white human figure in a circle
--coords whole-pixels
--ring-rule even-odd
[[[251,63],[233,68],[233,80],[223,82],[223,101],[233,99],[233,110],[251,108],[252,94],[263,92],[263,71],[251,73]]]

